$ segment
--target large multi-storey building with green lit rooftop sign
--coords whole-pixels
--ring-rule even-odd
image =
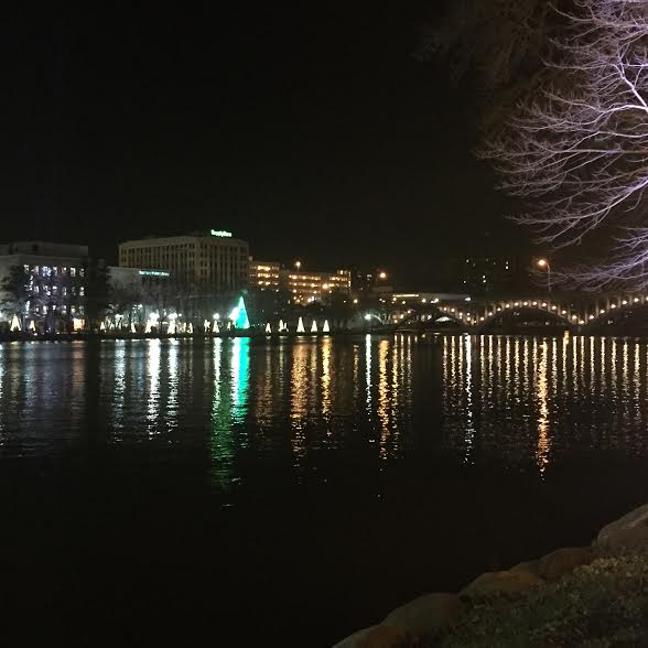
[[[176,281],[209,285],[216,291],[237,291],[248,284],[248,242],[230,231],[144,238],[119,246],[119,264],[171,272]]]

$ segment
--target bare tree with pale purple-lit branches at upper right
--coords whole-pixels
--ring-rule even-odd
[[[516,218],[553,247],[604,233],[607,260],[563,279],[597,289],[648,285],[648,0],[574,0],[539,93],[483,151]]]

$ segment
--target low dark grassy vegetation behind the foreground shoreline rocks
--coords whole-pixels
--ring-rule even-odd
[[[648,558],[598,559],[522,598],[483,601],[435,645],[648,646]]]

